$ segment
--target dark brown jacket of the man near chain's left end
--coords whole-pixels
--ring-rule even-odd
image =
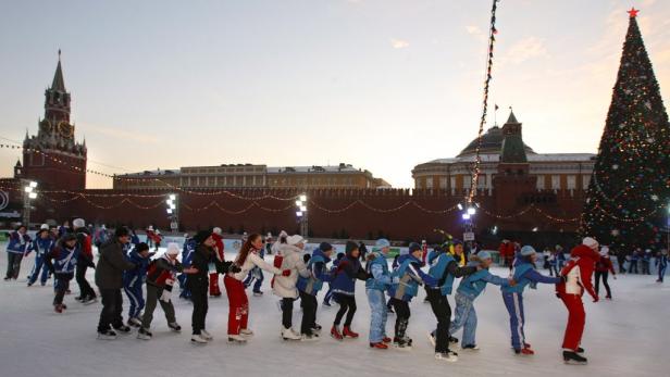
[[[135,264],[126,261],[123,255],[123,244],[112,239],[100,246],[100,259],[96,267],[96,285],[100,289],[123,288],[123,272],[135,268]]]

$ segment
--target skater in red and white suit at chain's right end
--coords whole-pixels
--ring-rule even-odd
[[[563,337],[563,361],[566,364],[586,364],[586,357],[581,353],[580,347],[586,313],[582,296],[584,290],[593,297],[593,302],[598,302],[598,294],[594,291],[591,277],[595,269],[598,254],[598,241],[591,237],[584,238],[582,244],[576,246],[570,252],[570,261],[561,269],[563,281],[556,285],[557,297],[563,301],[568,309],[568,326]]]

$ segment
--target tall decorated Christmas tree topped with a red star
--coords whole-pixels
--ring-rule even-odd
[[[662,243],[670,200],[670,127],[652,62],[630,23],[582,213],[581,234],[616,251]]]

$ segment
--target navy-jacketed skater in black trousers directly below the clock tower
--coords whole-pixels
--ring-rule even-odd
[[[45,263],[53,274],[55,297],[53,298],[53,310],[63,313],[67,309],[63,304],[63,297],[70,286],[70,280],[74,277],[74,267],[79,256],[77,237],[73,234],[65,234],[49,254],[45,256]],[[53,262],[52,262],[53,260]]]

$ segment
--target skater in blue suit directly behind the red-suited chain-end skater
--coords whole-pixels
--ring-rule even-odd
[[[558,284],[562,281],[562,277],[549,277],[539,274],[535,269],[535,261],[537,254],[532,246],[524,246],[517,254],[511,277],[517,282],[512,286],[504,286],[500,288],[502,292],[502,301],[509,313],[509,328],[511,330],[511,343],[514,353],[522,355],[532,355],[535,352],[531,349],[531,344],[525,342],[525,334],[523,325],[525,315],[523,312],[523,290],[526,286],[535,289],[538,282]]]

